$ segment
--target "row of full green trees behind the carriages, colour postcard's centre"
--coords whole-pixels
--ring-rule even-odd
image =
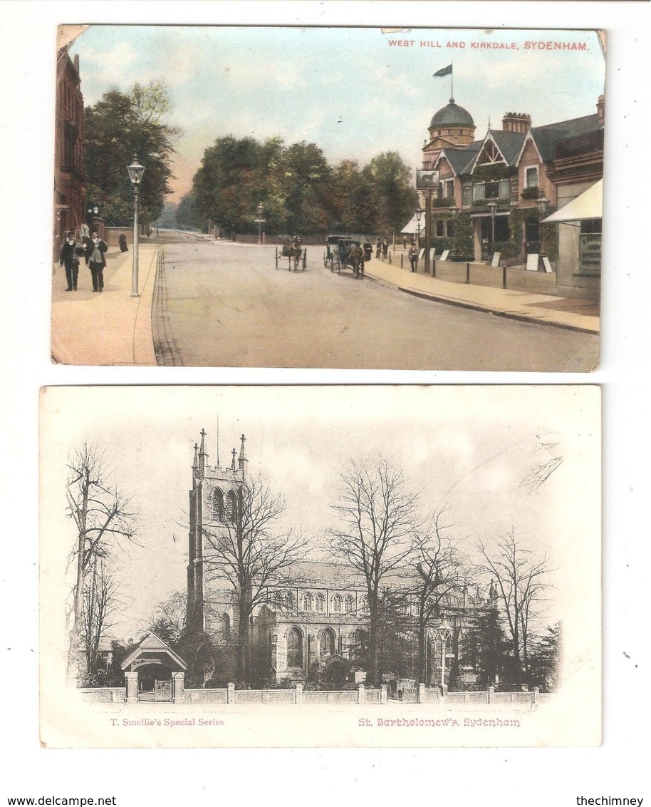
[[[179,208],[184,221],[200,227],[211,219],[227,231],[254,232],[259,203],[267,232],[390,234],[410,219],[417,199],[411,170],[394,152],[363,167],[353,160],[330,165],[305,140],[226,136],[206,149]]]

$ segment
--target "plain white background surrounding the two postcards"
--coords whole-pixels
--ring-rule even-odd
[[[647,2],[0,2],[2,208],[2,754],[0,798],[111,796],[130,805],[427,800],[575,805],[647,797],[645,565],[649,412]],[[603,350],[587,376],[186,368],[49,363],[53,48],[58,23],[603,27],[607,236]],[[288,55],[290,58],[290,55]],[[553,92],[553,88],[549,88]],[[604,734],[599,749],[48,751],[38,740],[38,390],[80,383],[600,383],[604,405]],[[646,700],[645,700],[646,698]]]

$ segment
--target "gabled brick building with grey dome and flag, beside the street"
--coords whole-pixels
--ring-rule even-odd
[[[515,265],[528,253],[545,253],[538,200],[544,196],[553,211],[603,176],[603,126],[600,96],[595,114],[533,126],[530,115],[507,112],[502,128],[489,125],[482,140],[473,140],[472,117],[450,98],[432,117],[422,149],[424,169],[439,174],[431,199],[432,244],[454,249],[457,217],[469,216],[472,254],[464,257],[480,261],[501,252]],[[551,246],[556,269],[557,244]],[[582,274],[574,266],[563,285],[594,289],[595,280]],[[585,274],[599,274],[594,261]]]

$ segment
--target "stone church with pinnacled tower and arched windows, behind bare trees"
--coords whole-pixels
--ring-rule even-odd
[[[215,574],[218,561],[212,553],[220,536],[236,533],[248,483],[248,460],[243,434],[239,454],[232,449],[230,466],[219,464],[219,449],[211,465],[206,437],[202,430],[200,443],[194,445],[186,620],[191,629],[208,633],[218,648],[218,664],[225,668],[215,669],[212,675],[220,679],[232,675],[239,625],[236,592],[227,589],[224,575]],[[397,589],[404,585],[404,575],[396,574],[385,583]],[[495,603],[483,599],[478,591],[474,596],[465,591],[441,600],[439,617],[428,627],[428,683],[440,681],[441,670],[446,679],[451,669],[458,667],[464,631],[493,607]],[[406,613],[411,613],[411,606]],[[354,570],[310,558],[295,563],[290,571],[283,572],[282,579],[269,580],[260,604],[254,608],[249,636],[259,679],[275,685],[350,675],[365,646],[368,621],[365,582]],[[415,633],[406,641],[411,642],[415,654]],[[457,669],[455,675],[460,674]]]

